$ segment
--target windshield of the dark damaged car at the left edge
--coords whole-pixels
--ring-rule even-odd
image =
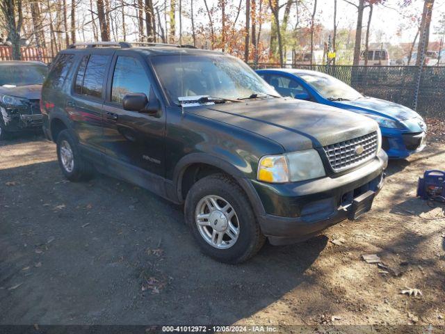
[[[44,65],[1,65],[0,86],[41,85],[47,72]]]

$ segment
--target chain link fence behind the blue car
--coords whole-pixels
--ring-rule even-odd
[[[280,64],[250,64],[254,69],[278,68]],[[285,65],[291,68],[291,65]],[[423,118],[445,120],[445,67],[422,68],[417,87],[417,66],[350,66],[350,65],[297,65],[295,68],[314,70],[336,77],[360,93],[403,104],[414,109]]]

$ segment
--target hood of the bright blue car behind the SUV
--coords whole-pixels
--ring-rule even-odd
[[[407,108],[401,104],[389,102],[385,100],[376,99],[375,97],[362,97],[354,101],[338,102],[343,106],[353,106],[362,111],[373,111],[383,116],[389,116],[396,120],[409,120],[410,118],[419,117],[419,114],[414,110]]]

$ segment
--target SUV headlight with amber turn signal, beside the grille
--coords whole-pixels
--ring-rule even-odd
[[[269,155],[258,164],[257,179],[269,183],[297,182],[325,176],[325,168],[316,150]]]

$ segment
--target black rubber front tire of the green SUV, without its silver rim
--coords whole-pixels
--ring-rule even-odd
[[[236,212],[239,227],[238,239],[230,248],[218,249],[211,246],[197,228],[195,211],[200,200],[205,196],[223,198]],[[203,253],[220,262],[229,264],[244,262],[254,256],[266,241],[243,189],[228,175],[209,175],[193,184],[188,191],[184,211],[186,223],[191,228],[193,237]]]

